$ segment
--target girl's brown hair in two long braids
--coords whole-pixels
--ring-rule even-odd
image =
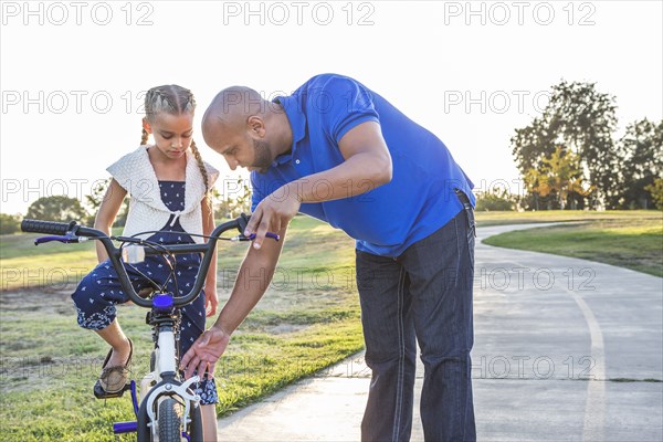
[[[152,87],[147,91],[145,95],[145,115],[149,123],[154,123],[156,116],[165,112],[170,115],[181,115],[185,113],[193,113],[196,109],[196,99],[193,94],[188,88],[178,86],[176,84],[169,84],[165,86]],[[140,145],[147,145],[147,138],[149,134],[143,128],[143,137],[140,138]],[[210,191],[210,183],[207,169],[202,162],[200,150],[196,146],[196,141],[191,140],[191,152],[198,164],[198,169],[202,175],[204,181],[206,194]],[[209,202],[209,200],[208,200]]]

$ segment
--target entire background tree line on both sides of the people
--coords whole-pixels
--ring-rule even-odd
[[[617,138],[617,98],[596,83],[561,81],[554,85],[540,116],[511,138],[523,194],[492,189],[477,194],[477,210],[663,209],[663,120],[627,125]],[[251,208],[251,189],[222,196],[212,189],[214,215],[232,218]],[[107,186],[107,185],[106,185]],[[82,202],[65,196],[43,197],[25,218],[78,220],[94,224],[106,186]],[[124,225],[128,199],[115,225]],[[0,213],[0,234],[20,229],[20,215]]]

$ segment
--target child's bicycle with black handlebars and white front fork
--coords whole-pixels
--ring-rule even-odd
[[[200,397],[194,394],[191,389],[193,383],[200,381],[200,377],[193,376],[186,381],[181,381],[178,370],[179,358],[177,355],[177,340],[179,339],[179,307],[192,303],[202,291],[204,275],[207,274],[212,261],[217,241],[220,239],[223,232],[231,229],[238,229],[240,231],[240,235],[231,240],[250,241],[252,239],[243,236],[243,231],[248,221],[249,217],[242,214],[235,220],[219,224],[211,233],[209,241],[204,244],[158,244],[158,246],[154,246],[154,244],[137,238],[110,238],[102,231],[78,225],[75,222],[62,223],[39,220],[22,221],[21,230],[24,232],[55,235],[40,238],[35,241],[35,244],[48,241],[71,243],[81,242],[86,239],[95,239],[101,241],[108,252],[108,259],[117,273],[122,288],[126,294],[128,294],[129,299],[134,304],[137,304],[141,307],[150,308],[150,312],[148,313],[148,324],[152,326],[154,330],[156,360],[154,367],[151,367],[150,364],[151,372],[147,375],[151,376],[154,379],[149,380],[146,379],[147,377],[144,378],[140,391],[140,403],[138,404],[136,397],[136,383],[134,380],[131,380],[129,386],[125,386],[125,388],[118,393],[102,394],[105,393],[103,390],[99,393],[95,389],[95,396],[97,398],[120,397],[127,389],[131,391],[134,411],[137,420],[136,422],[119,422],[114,424],[113,429],[116,434],[136,431],[137,440],[139,441],[150,440],[150,436],[151,440],[158,439],[158,419],[155,410],[159,406],[160,401],[168,398],[179,398],[179,402],[183,402],[185,406],[185,412],[181,415],[181,429],[183,431],[183,435],[187,436],[188,440],[202,440]],[[274,233],[270,232],[269,236],[278,241],[278,235]],[[193,287],[188,294],[178,297],[175,297],[171,293],[158,293],[151,298],[143,298],[138,296],[129,281],[127,271],[122,263],[122,250],[114,245],[113,239],[124,243],[131,243],[131,246],[143,248],[141,250],[138,250],[140,253],[136,253],[139,260],[145,255],[154,254],[164,255],[167,253],[202,253],[202,261],[198,270],[198,275],[196,276],[196,283],[193,284]],[[190,431],[188,431],[189,429]],[[190,433],[191,438],[187,433]]]

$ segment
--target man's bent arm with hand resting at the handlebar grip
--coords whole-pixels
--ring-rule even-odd
[[[244,234],[255,232],[253,246],[260,249],[269,230],[278,231],[297,214],[303,202],[332,201],[365,193],[391,181],[391,155],[380,125],[366,122],[348,130],[338,143],[340,165],[291,181],[261,201]],[[319,183],[324,182],[325,191]]]

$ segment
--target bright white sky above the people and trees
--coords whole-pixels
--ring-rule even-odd
[[[1,212],[82,198],[140,140],[141,93],[177,83],[200,118],[223,87],[265,97],[354,76],[435,133],[476,187],[518,173],[514,129],[561,78],[663,118],[661,1],[2,1]],[[222,190],[220,185],[220,189]]]

